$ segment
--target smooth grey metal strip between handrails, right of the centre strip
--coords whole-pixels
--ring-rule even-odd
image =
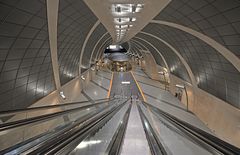
[[[156,117],[149,109],[141,105],[143,113],[148,118],[151,126],[155,129],[158,138],[163,144],[167,154],[176,155],[210,155],[212,152],[206,150],[199,144],[191,141],[182,134],[176,127],[169,124],[163,118]]]

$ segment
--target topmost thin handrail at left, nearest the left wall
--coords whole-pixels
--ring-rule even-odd
[[[102,100],[113,100],[113,98],[103,98],[94,100],[94,102],[102,101]],[[46,106],[39,106],[39,107],[31,107],[26,109],[14,109],[14,110],[6,110],[6,111],[0,111],[0,117],[8,116],[8,115],[14,115],[18,113],[25,113],[29,111],[37,111],[37,110],[44,110],[44,109],[51,109],[51,108],[57,108],[57,107],[65,107],[65,106],[72,106],[75,104],[82,104],[87,103],[90,101],[81,101],[81,102],[71,102],[71,103],[63,103],[63,104],[55,104],[55,105],[46,105]]]

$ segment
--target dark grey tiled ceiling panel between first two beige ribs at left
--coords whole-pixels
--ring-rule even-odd
[[[60,0],[58,61],[62,85],[78,75],[80,52],[96,21],[95,15],[82,0]]]

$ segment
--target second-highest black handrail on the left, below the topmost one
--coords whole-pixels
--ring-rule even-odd
[[[74,108],[74,109],[69,109],[69,110],[55,112],[55,113],[51,113],[51,114],[46,114],[46,115],[36,116],[36,117],[32,117],[32,118],[17,120],[17,121],[13,121],[13,122],[9,122],[9,123],[3,123],[3,124],[0,124],[0,131],[4,131],[4,130],[16,128],[16,127],[21,127],[21,126],[24,126],[24,125],[33,124],[33,123],[37,123],[37,122],[47,121],[49,119],[53,119],[55,117],[62,116],[62,115],[67,114],[67,113],[73,113],[75,111],[83,110],[83,109],[93,107],[93,106],[96,106],[96,105],[99,105],[99,104],[104,104],[106,102],[108,102],[108,101],[102,101],[102,102],[99,102],[99,103],[86,105],[86,106],[82,106],[82,107],[78,107],[78,108]]]

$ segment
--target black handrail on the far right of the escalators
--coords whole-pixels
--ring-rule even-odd
[[[206,131],[203,131],[202,129],[199,129],[185,121],[182,121],[182,120],[178,119],[177,117],[175,117],[169,113],[166,113],[166,112],[162,111],[161,109],[159,109],[147,102],[144,102],[144,103],[145,103],[145,104],[143,104],[144,106],[148,105],[150,108],[154,109],[155,115],[156,115],[156,113],[160,114],[161,116],[163,116],[165,119],[167,119],[169,122],[174,124],[176,127],[181,129],[182,131],[187,132],[189,135],[194,135],[194,137],[203,141],[205,144],[208,144],[212,148],[214,148],[224,154],[233,154],[233,155],[236,154],[237,155],[240,153],[240,149],[237,148],[236,146],[229,144],[228,142],[225,142],[225,141],[221,140],[220,138],[218,138],[212,134],[209,134]]]

